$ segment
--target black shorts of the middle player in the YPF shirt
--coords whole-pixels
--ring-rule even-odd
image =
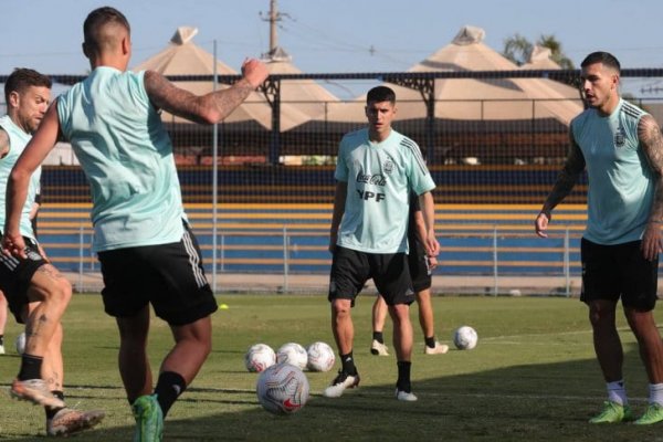
[[[412,304],[414,291],[404,253],[365,253],[337,246],[332,261],[328,299],[351,299],[372,278],[388,305]]]

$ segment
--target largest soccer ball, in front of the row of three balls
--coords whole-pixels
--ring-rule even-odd
[[[308,400],[308,379],[299,368],[290,364],[267,367],[257,378],[255,392],[260,404],[274,414],[292,414]]]

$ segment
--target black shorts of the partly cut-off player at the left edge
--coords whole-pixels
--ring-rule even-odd
[[[48,264],[32,240],[23,236],[23,241],[25,241],[28,259],[23,260],[0,253],[0,290],[4,293],[9,309],[19,324],[23,324],[21,312],[30,302],[28,299],[28,287],[30,287],[32,276],[39,267]]]

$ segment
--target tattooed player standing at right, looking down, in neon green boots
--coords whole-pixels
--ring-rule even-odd
[[[663,138],[654,118],[621,98],[620,64],[593,52],[581,64],[588,108],[571,120],[565,166],[535,230],[547,236],[552,209],[587,169],[588,220],[582,235],[582,293],[608,400],[592,423],[631,420],[623,349],[615,327],[621,298],[650,381],[649,407],[636,424],[663,420],[663,343],[653,316],[663,223]]]

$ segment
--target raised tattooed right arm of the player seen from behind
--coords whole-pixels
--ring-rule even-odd
[[[156,107],[196,123],[213,124],[228,117],[242,104],[265,81],[269,72],[264,63],[246,60],[242,65],[242,75],[229,88],[199,96],[175,86],[155,71],[147,71],[145,88]]]

